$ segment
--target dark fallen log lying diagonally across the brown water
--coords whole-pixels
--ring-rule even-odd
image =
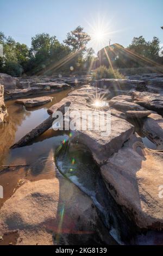
[[[66,102],[64,105],[59,107],[57,109],[57,111],[62,112],[62,114],[64,115],[65,114],[65,107],[69,107],[70,104],[71,104],[71,102],[69,102],[69,101]],[[50,127],[52,127],[52,124],[55,121],[55,119],[57,119],[57,118],[53,118],[52,115],[51,115],[49,118],[47,118],[45,121],[43,121],[43,123],[41,123],[40,125],[35,127],[35,129],[28,132],[23,138],[20,139],[20,141],[18,141],[14,145],[12,145],[11,149],[21,148],[21,147],[26,146],[29,142],[33,141],[33,139],[40,136],[43,132],[45,132]]]

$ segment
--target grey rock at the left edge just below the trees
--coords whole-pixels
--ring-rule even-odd
[[[13,90],[16,88],[18,79],[7,74],[0,73],[0,83],[4,85],[4,92],[6,90]]]

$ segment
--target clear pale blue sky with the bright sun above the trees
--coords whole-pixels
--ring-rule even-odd
[[[0,31],[30,46],[31,37],[46,32],[65,39],[78,25],[92,34],[96,27],[107,32],[95,51],[111,43],[130,44],[134,36],[163,43],[163,0],[0,0]]]

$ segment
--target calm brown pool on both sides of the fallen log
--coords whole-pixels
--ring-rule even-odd
[[[34,181],[53,178],[55,175],[52,157],[55,149],[67,138],[65,132],[49,129],[26,147],[12,150],[10,147],[48,118],[47,109],[66,97],[68,92],[70,90],[51,94],[52,102],[35,108],[26,109],[15,103],[15,100],[6,102],[9,120],[4,127],[0,128],[0,184],[4,190],[4,199],[0,200],[0,208],[5,200],[14,193],[18,180],[27,178]],[[8,164],[28,164],[30,168],[2,168],[2,165]]]

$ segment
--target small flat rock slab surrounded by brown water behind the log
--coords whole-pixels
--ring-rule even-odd
[[[16,100],[16,103],[21,103],[25,107],[36,107],[45,105],[48,102],[51,102],[53,97],[43,96],[43,97],[35,97],[32,99],[22,99],[22,100]]]

